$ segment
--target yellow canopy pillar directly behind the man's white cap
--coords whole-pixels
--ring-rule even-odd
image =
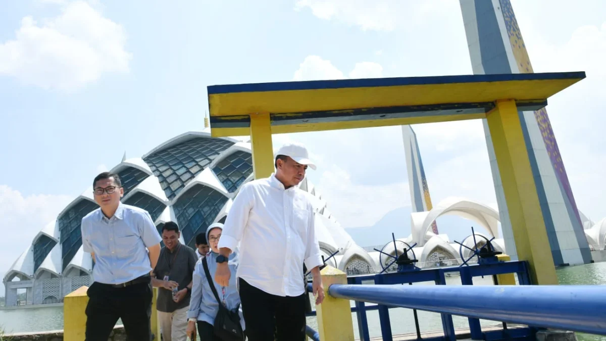
[[[275,170],[269,113],[250,115],[250,146],[255,179],[269,177]]]

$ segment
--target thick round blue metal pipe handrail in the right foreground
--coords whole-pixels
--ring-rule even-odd
[[[606,286],[333,284],[338,299],[606,335]]]

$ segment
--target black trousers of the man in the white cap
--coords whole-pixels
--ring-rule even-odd
[[[305,340],[307,294],[295,297],[272,295],[243,279],[238,280],[248,341]]]

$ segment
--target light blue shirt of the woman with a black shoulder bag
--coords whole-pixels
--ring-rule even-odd
[[[213,277],[213,283],[215,284],[215,288],[217,289],[217,294],[219,294],[219,299],[223,300],[223,294],[221,291],[221,286],[215,283],[215,271],[217,269],[217,259],[218,254],[215,252],[209,252],[206,255],[206,260],[208,262],[208,271],[210,275]],[[193,271],[193,283],[191,285],[191,299],[190,299],[190,309],[187,311],[188,319],[198,319],[198,321],[204,321],[210,323],[210,325],[215,325],[215,317],[217,316],[217,312],[219,312],[219,303],[215,299],[215,294],[210,289],[210,284],[208,284],[208,280],[206,279],[206,274],[204,273],[204,265],[202,265],[202,260],[204,258],[200,258],[198,263],[196,263],[196,268]],[[236,279],[236,271],[238,269],[238,256],[235,252],[230,254],[228,267],[231,272],[231,277],[229,279],[229,286],[225,288],[225,303],[227,305],[227,309],[233,311],[238,307],[238,314],[240,316],[240,325],[242,326],[242,330],[246,330],[244,325],[244,316],[242,316],[242,305],[240,304],[240,294],[238,293],[238,288],[236,287],[237,279]]]

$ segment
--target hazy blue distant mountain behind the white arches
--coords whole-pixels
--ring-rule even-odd
[[[391,240],[391,233],[395,234],[396,238],[405,238],[410,235],[410,214],[412,208],[405,206],[387,212],[373,226],[362,228],[346,228],[345,231],[359,246],[376,246],[385,245]],[[476,232],[488,235],[488,231],[479,226],[478,223],[458,217],[456,215],[444,215],[436,220],[438,224],[438,232],[447,234],[451,243],[454,240],[462,241],[468,235],[471,235],[471,226]],[[499,232],[501,228],[499,226]],[[502,237],[502,235],[501,235]]]

